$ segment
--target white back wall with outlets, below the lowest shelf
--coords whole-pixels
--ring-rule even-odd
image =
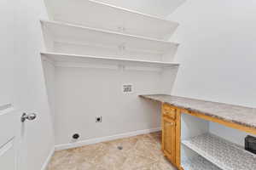
[[[166,82],[170,85],[176,75],[172,72],[171,82]],[[59,149],[76,145],[73,133],[81,135],[79,142],[160,127],[160,105],[138,95],[159,94],[163,77],[167,79],[158,71],[56,67],[55,142]],[[133,94],[122,93],[125,83],[133,85]],[[101,123],[96,123],[96,116],[102,116]]]

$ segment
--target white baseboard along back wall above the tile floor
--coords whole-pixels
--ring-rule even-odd
[[[87,140],[82,140],[82,141],[70,143],[70,144],[57,144],[55,145],[55,150],[67,150],[70,148],[76,148],[76,147],[84,146],[87,144],[96,144],[96,143],[106,142],[114,139],[122,139],[122,138],[131,137],[131,136],[137,136],[139,134],[154,133],[154,132],[160,131],[160,129],[161,129],[160,127],[156,127],[156,128],[145,129],[145,130],[138,130],[130,133],[115,134],[113,136],[106,136],[102,138],[87,139]]]

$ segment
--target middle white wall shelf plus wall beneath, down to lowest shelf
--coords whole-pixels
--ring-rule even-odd
[[[113,31],[103,31],[84,26],[41,20],[44,38],[52,49],[63,54],[85,54],[102,56],[144,56],[147,60],[156,57],[161,60],[173,58],[178,44],[153,38],[131,36]],[[48,38],[48,39],[47,39]],[[150,59],[149,59],[150,60]]]

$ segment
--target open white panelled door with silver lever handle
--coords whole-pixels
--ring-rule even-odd
[[[15,1],[0,1],[0,170],[20,170],[22,112],[16,107]],[[24,99],[26,96],[24,96]],[[27,119],[33,119],[28,116]]]

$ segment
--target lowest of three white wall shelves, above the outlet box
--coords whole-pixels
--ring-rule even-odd
[[[106,58],[76,54],[55,54],[55,53],[41,53],[44,58],[49,59],[55,66],[67,66],[67,67],[80,67],[84,64],[88,65],[115,65],[111,68],[125,68],[125,66],[139,67],[143,70],[145,67],[153,68],[172,68],[177,67],[179,64],[158,62],[158,61],[146,61],[146,60],[135,60],[135,59],[117,59],[117,58]],[[108,66],[107,66],[108,67]],[[106,67],[106,68],[107,68]],[[131,68],[129,67],[129,68]]]

